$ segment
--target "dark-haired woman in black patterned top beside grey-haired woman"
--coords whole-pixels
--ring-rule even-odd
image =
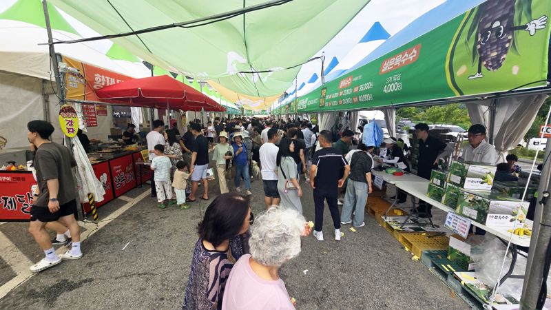
[[[182,309],[220,309],[229,271],[249,253],[249,225],[253,222],[249,197],[236,192],[216,197],[199,223],[199,238]]]

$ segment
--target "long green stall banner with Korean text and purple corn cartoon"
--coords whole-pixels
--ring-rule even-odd
[[[368,109],[545,86],[550,12],[547,0],[488,0],[300,97],[297,112]]]

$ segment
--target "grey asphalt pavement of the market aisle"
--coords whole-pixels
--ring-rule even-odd
[[[211,182],[211,200],[218,191]],[[252,184],[252,208],[264,209],[262,183]],[[233,188],[233,187],[231,187]],[[304,186],[302,207],[313,220],[313,197]],[[83,241],[84,256],[32,276],[0,300],[0,309],[179,309],[196,242],[196,225],[209,202],[187,210],[157,209],[147,186],[126,197],[145,196]],[[202,193],[202,188],[199,188]],[[127,198],[100,209],[100,220],[124,207]],[[21,253],[37,262],[43,252],[27,232],[28,223],[6,223],[0,232]],[[366,215],[366,226],[344,225],[340,242],[331,238],[329,210],[324,212],[325,241],[304,238],[302,252],[280,269],[297,309],[469,309],[421,262]],[[90,231],[88,231],[90,233]],[[306,272],[304,272],[307,270]],[[0,285],[15,272],[0,260]]]

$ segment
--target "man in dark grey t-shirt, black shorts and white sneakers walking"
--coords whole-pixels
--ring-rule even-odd
[[[37,148],[34,156],[34,169],[37,172],[39,193],[32,200],[30,209],[29,232],[43,249],[45,258],[32,265],[32,272],[39,272],[59,264],[61,260],[76,260],[82,257],[81,233],[76,223],[76,187],[71,168],[76,167],[76,161],[69,149],[63,145],[48,140],[54,132],[54,126],[46,121],[30,121],[27,137]],[[45,229],[48,222],[59,221],[69,227],[72,237],[72,247],[59,257],[50,234]]]

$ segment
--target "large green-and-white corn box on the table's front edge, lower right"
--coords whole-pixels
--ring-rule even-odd
[[[461,190],[455,211],[488,227],[514,227],[516,221],[523,223],[526,219],[528,205],[527,201],[495,192]]]

